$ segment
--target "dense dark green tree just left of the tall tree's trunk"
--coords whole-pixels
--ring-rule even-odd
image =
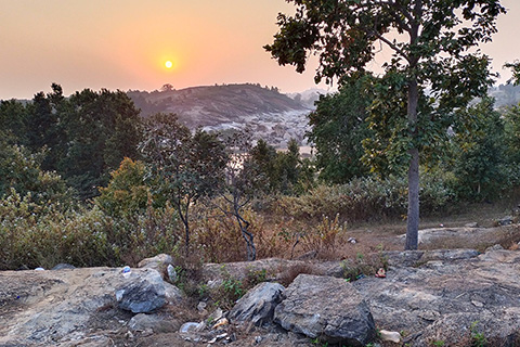
[[[309,140],[316,149],[320,178],[347,183],[368,172],[361,162],[362,141],[370,138],[366,121],[373,97],[365,92],[369,76],[344,82],[336,94],[321,95],[316,111],[309,115]]]

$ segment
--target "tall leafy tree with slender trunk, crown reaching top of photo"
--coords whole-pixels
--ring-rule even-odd
[[[306,69],[309,52],[320,55],[315,79],[332,82],[377,63],[382,46],[392,57],[381,68],[373,114],[392,106],[391,137],[374,154],[395,152],[407,164],[408,211],[405,249],[416,249],[419,226],[419,152],[434,146],[452,123],[453,110],[483,95],[491,83],[481,42],[496,33],[505,13],[499,0],[288,0],[294,16],[278,15],[280,31],[265,49],[278,64]],[[426,93],[428,90],[428,94]],[[405,112],[404,112],[405,110]],[[375,137],[379,137],[376,130]],[[388,134],[389,129],[382,129]]]

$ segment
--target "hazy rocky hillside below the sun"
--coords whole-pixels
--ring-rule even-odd
[[[190,128],[205,130],[243,129],[250,127],[256,139],[284,147],[290,138],[306,144],[306,116],[309,104],[280,93],[276,88],[260,85],[224,85],[162,91],[129,91],[144,117],[174,113]]]

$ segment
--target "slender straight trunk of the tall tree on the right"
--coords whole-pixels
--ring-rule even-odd
[[[408,151],[411,155],[408,168],[408,215],[406,224],[406,244],[404,249],[417,249],[419,234],[419,150],[415,145],[417,137],[417,105],[419,101],[417,79],[408,82],[408,126],[414,147]]]

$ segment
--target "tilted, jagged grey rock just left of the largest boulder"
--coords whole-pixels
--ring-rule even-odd
[[[230,311],[230,320],[237,323],[250,321],[255,325],[270,323],[284,290],[278,283],[258,284],[236,303]]]

